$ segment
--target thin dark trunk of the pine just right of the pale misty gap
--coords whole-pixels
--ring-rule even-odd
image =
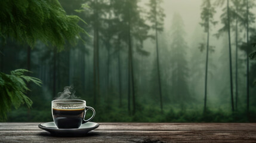
[[[209,21],[207,28],[207,43],[206,43],[206,63],[205,63],[205,102],[203,106],[203,113],[206,113],[206,102],[207,102],[207,77],[208,77],[208,56],[209,56]]]

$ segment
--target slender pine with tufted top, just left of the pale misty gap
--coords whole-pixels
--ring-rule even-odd
[[[163,111],[163,101],[162,101],[162,86],[161,86],[161,71],[159,65],[159,49],[158,49],[158,32],[162,32],[164,29],[164,9],[161,7],[162,0],[155,1],[150,0],[147,4],[150,8],[148,13],[148,19],[152,24],[151,29],[155,30],[155,42],[156,42],[156,65],[158,69],[158,85],[159,85],[159,98],[160,98],[160,108]]]

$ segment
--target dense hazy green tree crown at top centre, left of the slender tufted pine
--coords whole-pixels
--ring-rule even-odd
[[[115,0],[112,1],[112,8],[115,14],[113,18],[116,22],[115,29],[121,41],[129,45],[127,39],[133,38],[132,45],[136,47],[136,52],[140,55],[148,55],[148,52],[143,49],[143,41],[149,38],[150,27],[142,16],[144,11],[138,5],[138,0]]]

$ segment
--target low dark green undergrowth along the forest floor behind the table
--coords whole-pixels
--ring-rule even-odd
[[[249,117],[245,111],[227,111],[208,109],[205,114],[198,107],[168,107],[163,113],[152,105],[137,105],[136,112],[128,113],[127,107],[119,105],[95,106],[96,116],[92,122],[256,122],[255,108],[251,108]],[[87,118],[91,111],[87,112]],[[27,109],[25,106],[8,114],[7,122],[51,122],[51,105]]]

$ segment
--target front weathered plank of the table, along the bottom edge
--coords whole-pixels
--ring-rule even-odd
[[[0,131],[0,142],[255,142],[245,130],[95,130],[83,137],[56,137],[43,130]]]

